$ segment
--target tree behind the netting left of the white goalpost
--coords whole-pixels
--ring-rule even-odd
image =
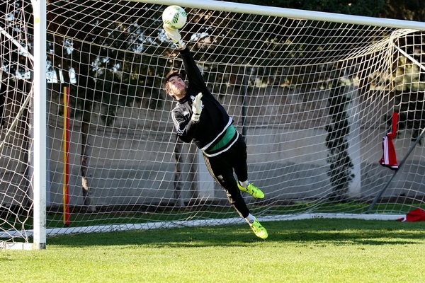
[[[33,79],[32,74],[28,71],[31,66],[29,57],[32,52],[33,41],[32,7],[30,2],[26,0],[8,0],[1,2],[0,12],[3,15],[0,20],[0,96],[1,99],[8,97],[11,100],[16,100],[17,105],[19,105],[18,103],[23,105],[24,100],[30,96],[30,87]],[[1,111],[3,112],[3,109]],[[26,176],[22,180],[20,189],[26,192],[22,203],[30,207],[33,191],[30,186],[32,156],[30,155],[29,134],[31,121],[28,106],[24,108],[23,115],[19,119],[23,121],[21,127],[24,134],[22,141],[15,142],[22,146],[22,156],[19,161],[25,168],[23,175]],[[1,119],[0,122],[4,123],[5,121]],[[14,127],[16,127],[16,124]]]

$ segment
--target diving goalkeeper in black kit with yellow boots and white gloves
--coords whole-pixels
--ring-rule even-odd
[[[198,146],[203,152],[208,171],[225,190],[230,204],[251,226],[256,236],[265,239],[268,236],[266,229],[249,213],[240,192],[248,192],[259,199],[264,197],[259,188],[248,183],[245,141],[232,125],[233,120],[225,108],[208,90],[179,31],[166,27],[164,30],[179,49],[188,79],[186,86],[179,71],[170,71],[164,81],[166,93],[177,100],[176,107],[171,110],[177,135],[182,141],[193,141]],[[235,180],[233,172],[238,180]]]

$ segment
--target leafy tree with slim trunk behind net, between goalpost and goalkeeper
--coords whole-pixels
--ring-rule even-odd
[[[52,50],[47,52],[47,60],[55,69],[69,74],[68,82],[78,82],[70,85],[70,105],[72,115],[81,118],[81,187],[84,207],[91,212],[95,207],[91,202],[89,131],[94,106],[101,105],[103,122],[112,125],[118,107],[141,99],[143,87],[145,97],[150,93],[149,107],[160,107],[159,81],[154,79],[153,68],[166,61],[152,62],[153,57],[142,53],[149,54],[145,43],[154,41],[149,35],[156,37],[161,31],[142,30],[138,23],[154,21],[149,13],[155,9],[130,1],[125,5],[94,0],[52,0],[47,4],[47,39]],[[115,13],[118,9],[120,13]],[[150,64],[145,64],[147,61]]]

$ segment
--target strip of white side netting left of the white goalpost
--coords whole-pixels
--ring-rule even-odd
[[[7,6],[7,13],[3,8]],[[1,4],[0,23],[0,233],[28,240],[32,216],[30,166],[31,55],[26,47],[28,4]]]

